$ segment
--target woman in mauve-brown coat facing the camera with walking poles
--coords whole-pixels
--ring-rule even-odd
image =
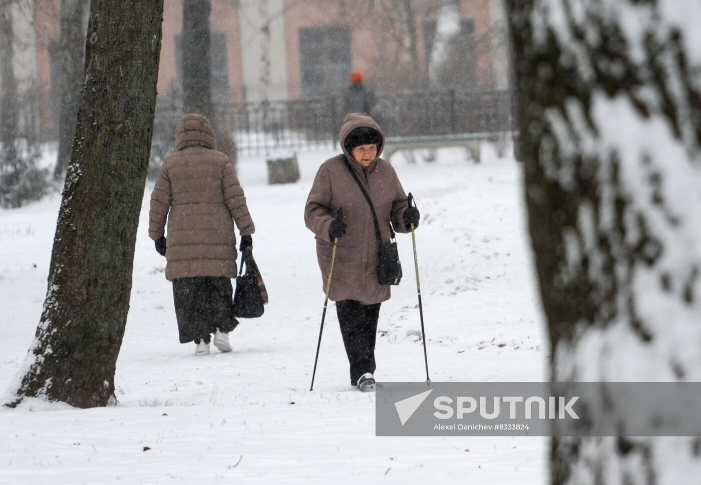
[[[338,238],[329,299],[336,302],[351,386],[365,391],[374,388],[377,321],[381,303],[390,297],[390,286],[378,281],[377,226],[386,242],[393,237],[390,223],[396,232],[410,232],[419,214],[409,206],[392,165],[379,157],[384,134],[369,115],[346,115],[339,138],[343,153],[319,168],[304,220],[315,234],[324,290]],[[337,216],[339,209],[343,218]]]

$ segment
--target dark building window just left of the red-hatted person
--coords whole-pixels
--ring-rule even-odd
[[[346,26],[299,29],[302,96],[341,89],[351,71],[351,31]]]

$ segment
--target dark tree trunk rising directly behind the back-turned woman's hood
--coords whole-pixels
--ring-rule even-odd
[[[182,90],[185,113],[213,120],[210,65],[210,0],[184,0],[182,7]]]

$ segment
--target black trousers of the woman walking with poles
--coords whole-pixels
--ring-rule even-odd
[[[351,365],[351,385],[365,372],[375,372],[375,336],[380,303],[364,305],[355,300],[336,302],[343,345]]]

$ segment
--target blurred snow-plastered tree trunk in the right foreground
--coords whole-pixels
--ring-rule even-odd
[[[701,381],[701,2],[509,0],[554,381]],[[553,484],[681,484],[701,441],[553,440]]]

